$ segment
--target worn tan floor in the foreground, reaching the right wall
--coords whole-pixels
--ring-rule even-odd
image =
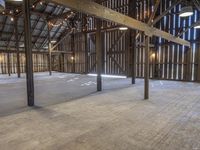
[[[200,149],[200,84],[151,81],[151,98],[144,101],[142,80],[135,86],[129,79],[105,80],[101,93],[0,117],[0,149]],[[111,90],[117,83],[124,87]]]

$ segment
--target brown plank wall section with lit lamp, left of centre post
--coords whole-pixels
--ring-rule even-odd
[[[74,36],[74,41],[72,41],[73,36]],[[65,51],[68,53],[60,54],[63,55],[60,57],[58,55],[53,56],[54,70],[70,72],[70,73],[85,73],[85,53],[86,53],[85,36],[84,33],[75,33],[73,36],[72,35],[68,36],[59,45],[58,50]],[[59,70],[56,67],[56,65],[62,63],[61,61],[62,58],[63,58],[63,64],[61,65],[63,65],[63,69],[61,68],[61,70]]]

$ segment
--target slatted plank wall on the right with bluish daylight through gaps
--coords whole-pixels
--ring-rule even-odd
[[[162,14],[170,5],[171,1],[162,0],[158,14]],[[147,22],[152,13],[150,0],[142,0],[138,3],[138,20]],[[157,28],[178,35],[193,22],[196,22],[200,13],[189,18],[180,18],[178,13],[181,5],[177,5],[169,14],[156,24]],[[181,38],[192,42],[192,49],[182,45],[170,43],[160,38],[152,38],[159,46],[151,49],[150,54],[150,77],[164,80],[200,81],[200,45],[197,43],[200,38],[200,31],[190,29]],[[140,43],[144,42],[144,36],[139,38]],[[144,77],[144,48],[137,49],[137,77]]]

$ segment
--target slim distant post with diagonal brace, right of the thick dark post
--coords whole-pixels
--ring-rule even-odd
[[[47,22],[48,28],[48,62],[49,62],[49,75],[52,75],[52,50],[51,50],[51,31],[50,24]]]

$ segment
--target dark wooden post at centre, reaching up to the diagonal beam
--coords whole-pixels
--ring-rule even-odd
[[[97,61],[97,91],[102,91],[102,42],[101,42],[101,20],[97,19],[96,32],[96,61]]]

